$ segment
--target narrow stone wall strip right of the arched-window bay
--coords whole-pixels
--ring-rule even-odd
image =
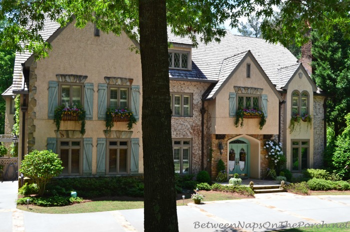
[[[313,96],[313,168],[323,166],[325,96]]]

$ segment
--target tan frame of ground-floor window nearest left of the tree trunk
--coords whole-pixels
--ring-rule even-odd
[[[119,145],[109,145],[109,142],[112,141],[127,141],[127,146],[119,146]],[[127,149],[127,163],[126,163],[126,172],[119,172],[119,166],[116,166],[116,172],[109,172],[109,149],[110,148],[126,148]],[[117,154],[118,160],[119,153]],[[130,162],[131,162],[131,140],[129,138],[110,138],[106,140],[106,159],[105,159],[105,171],[106,174],[129,174],[130,173]],[[117,163],[118,164],[118,163]]]

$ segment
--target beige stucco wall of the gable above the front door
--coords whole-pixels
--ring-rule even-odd
[[[250,63],[250,78],[246,77],[246,63]],[[279,100],[271,86],[263,77],[254,62],[247,57],[228,81],[219,90],[214,102],[209,103],[212,116],[213,134],[277,134]],[[261,94],[267,94],[266,124],[259,129],[259,118],[244,118],[243,127],[235,127],[235,117],[229,117],[229,92],[235,92],[233,86],[262,88]]]

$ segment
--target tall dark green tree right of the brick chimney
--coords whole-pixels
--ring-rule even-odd
[[[331,30],[328,40],[314,30],[312,78],[328,96],[326,121],[337,137],[346,127],[345,115],[350,111],[350,38],[338,26]]]

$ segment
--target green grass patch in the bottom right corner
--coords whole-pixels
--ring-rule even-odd
[[[318,225],[311,225],[306,227],[301,227],[300,228],[290,228],[290,229],[281,229],[278,231],[288,231],[288,232],[301,232],[301,231],[307,231],[307,232],[332,232],[332,231],[343,231],[343,232],[350,232],[350,221],[348,222],[338,222],[338,223],[329,223],[329,224],[323,224],[323,227],[321,227],[322,223]],[[316,227],[318,226],[318,228]],[[326,227],[328,226],[328,227]]]

